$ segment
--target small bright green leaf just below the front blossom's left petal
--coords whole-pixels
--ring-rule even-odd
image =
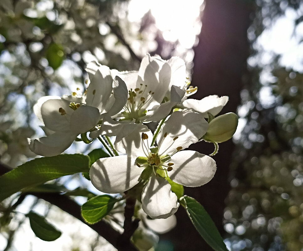
[[[99,195],[85,202],[81,207],[82,217],[90,224],[100,221],[111,210],[117,199],[109,195]]]

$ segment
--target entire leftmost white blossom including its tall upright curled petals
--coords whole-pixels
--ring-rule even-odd
[[[125,83],[116,70],[91,62],[86,68],[90,84],[85,95],[46,96],[34,105],[47,137],[29,139],[29,148],[42,156],[55,156],[65,151],[80,133],[94,128],[102,116],[120,112],[127,100]]]

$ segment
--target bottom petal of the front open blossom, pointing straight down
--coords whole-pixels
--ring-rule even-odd
[[[150,177],[142,191],[142,209],[149,217],[165,219],[177,211],[178,198],[170,189],[170,183],[164,178]]]

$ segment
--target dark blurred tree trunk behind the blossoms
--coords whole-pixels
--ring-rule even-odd
[[[194,48],[194,68],[191,84],[198,86],[192,97],[201,99],[217,94],[229,96],[229,102],[222,113],[236,112],[240,104],[240,91],[247,74],[246,60],[249,55],[247,29],[253,12],[253,1],[248,0],[206,0],[202,16],[199,44]],[[185,194],[199,201],[210,214],[221,234],[224,234],[222,219],[224,200],[230,190],[229,165],[234,145],[232,140],[220,144],[219,153],[214,156],[217,172],[213,180],[199,188],[185,188]],[[204,154],[210,154],[214,146],[200,142],[191,147]],[[160,236],[161,246],[173,244],[173,250],[212,250],[196,232],[183,208],[177,211],[177,227]],[[168,243],[169,241],[172,243]],[[170,249],[167,249],[170,250]]]

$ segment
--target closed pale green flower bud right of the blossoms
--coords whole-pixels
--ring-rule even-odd
[[[236,132],[237,126],[238,116],[233,112],[225,113],[209,123],[203,139],[217,143],[227,141]]]

